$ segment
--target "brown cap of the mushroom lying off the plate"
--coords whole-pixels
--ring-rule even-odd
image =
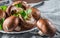
[[[56,33],[55,26],[47,19],[39,19],[37,21],[37,27],[40,29],[40,31],[50,37],[53,37]]]

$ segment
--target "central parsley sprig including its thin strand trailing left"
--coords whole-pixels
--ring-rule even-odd
[[[29,19],[30,13],[32,12],[31,9],[23,10],[21,9],[17,14],[13,14],[14,16],[19,16],[21,15],[23,19],[27,20]]]

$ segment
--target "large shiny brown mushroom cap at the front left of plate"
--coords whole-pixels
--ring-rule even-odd
[[[19,24],[19,19],[15,16],[8,17],[3,23],[3,30],[6,32],[13,31]]]

